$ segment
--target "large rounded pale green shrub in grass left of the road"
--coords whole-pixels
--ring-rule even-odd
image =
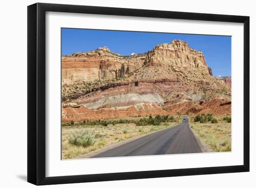
[[[95,139],[94,135],[86,130],[75,132],[70,138],[68,138],[68,142],[70,144],[86,148],[88,146],[94,145]]]

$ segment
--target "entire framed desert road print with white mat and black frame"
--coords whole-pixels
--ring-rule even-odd
[[[28,182],[249,171],[248,16],[27,11]]]

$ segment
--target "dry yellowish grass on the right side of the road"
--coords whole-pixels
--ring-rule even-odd
[[[214,116],[218,123],[193,122],[190,127],[205,141],[214,152],[231,151],[231,123],[223,121],[224,116]]]

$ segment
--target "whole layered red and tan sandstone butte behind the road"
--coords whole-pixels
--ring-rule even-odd
[[[173,40],[144,54],[107,47],[62,56],[62,121],[166,114],[231,114],[231,78]]]

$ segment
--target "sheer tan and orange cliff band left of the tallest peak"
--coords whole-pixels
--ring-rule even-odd
[[[76,81],[112,80],[139,69],[146,54],[123,56],[107,47],[62,57],[62,83]]]

